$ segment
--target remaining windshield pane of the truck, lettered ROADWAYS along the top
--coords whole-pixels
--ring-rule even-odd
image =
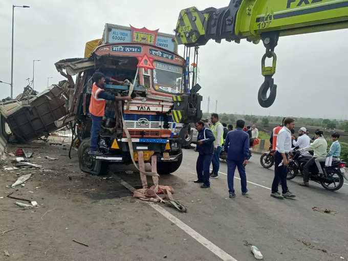
[[[183,69],[169,63],[154,62],[153,70],[154,88],[163,93],[180,93]]]

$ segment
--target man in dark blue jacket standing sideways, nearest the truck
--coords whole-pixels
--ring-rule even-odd
[[[199,152],[196,164],[198,179],[194,183],[203,183],[201,188],[209,188],[209,167],[214,154],[215,137],[203,121],[196,122],[194,126],[198,130],[196,150]]]

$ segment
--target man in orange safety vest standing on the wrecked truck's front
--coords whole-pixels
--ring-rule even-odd
[[[130,96],[119,97],[105,92],[103,89],[105,87],[105,82],[116,82],[118,84],[126,84],[125,81],[118,81],[111,78],[105,78],[102,73],[94,73],[93,74],[93,87],[91,94],[91,103],[89,107],[89,111],[92,118],[92,127],[91,127],[91,146],[90,146],[90,154],[98,155],[101,154],[98,151],[98,137],[99,137],[99,129],[101,126],[101,122],[104,116],[105,104],[106,100],[111,101],[131,101],[132,98]]]

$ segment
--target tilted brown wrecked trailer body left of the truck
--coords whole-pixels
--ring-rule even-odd
[[[21,95],[20,99],[0,103],[14,139],[30,142],[57,130],[55,121],[68,114],[69,92],[69,82],[64,80],[37,95]]]

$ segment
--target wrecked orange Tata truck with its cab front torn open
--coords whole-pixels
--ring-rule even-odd
[[[143,151],[145,162],[157,156],[160,174],[180,167],[187,123],[202,117],[202,97],[197,94],[198,84],[195,92],[185,94],[187,63],[177,48],[174,35],[106,24],[102,39],[86,44],[84,58],[55,63],[58,72],[73,85],[69,115],[61,124],[73,122],[72,147],[78,150],[82,171],[100,175],[108,164],[129,164],[132,158],[137,161],[138,151]],[[130,102],[107,101],[98,141],[102,155],[97,156],[89,154],[89,104],[95,72],[129,80],[130,86],[106,84],[105,90],[133,98]]]

